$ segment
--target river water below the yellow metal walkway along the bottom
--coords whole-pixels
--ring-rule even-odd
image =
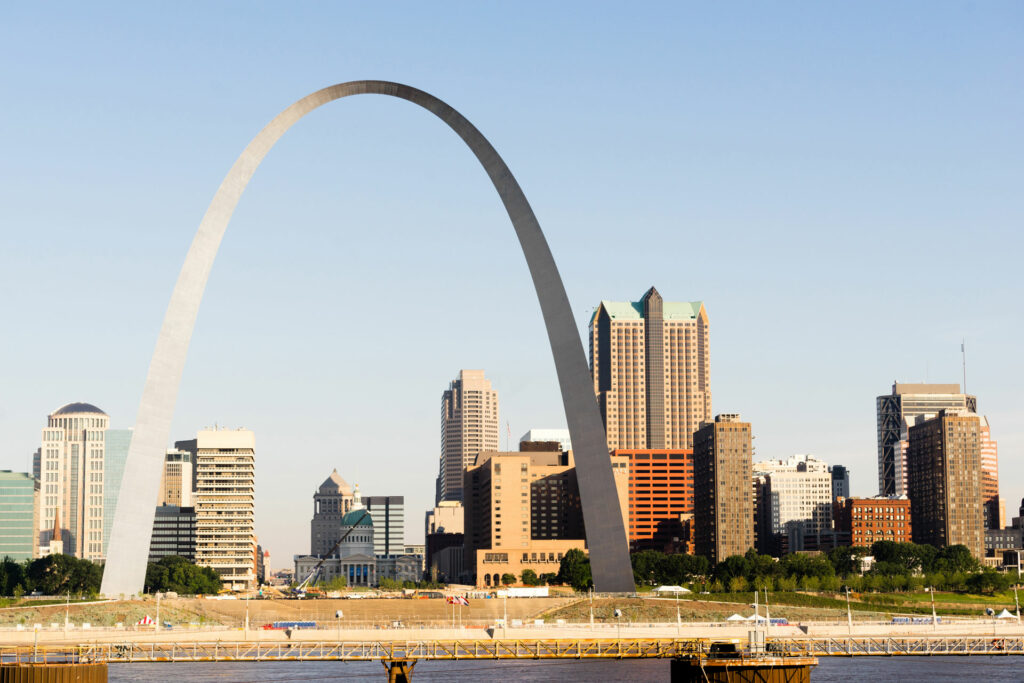
[[[813,683],[851,681],[1024,682],[1020,656],[822,657]],[[272,683],[386,681],[379,661],[272,661],[263,664],[111,665],[111,683]],[[421,661],[413,681],[668,681],[668,660]]]

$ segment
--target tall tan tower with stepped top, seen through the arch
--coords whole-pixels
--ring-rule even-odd
[[[498,392],[482,370],[462,370],[441,395],[435,503],[463,500],[463,472],[483,451],[498,451]]]

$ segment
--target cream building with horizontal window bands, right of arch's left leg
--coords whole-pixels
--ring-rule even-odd
[[[196,564],[213,568],[225,588],[256,581],[256,437],[248,429],[204,429],[179,451],[196,464]]]

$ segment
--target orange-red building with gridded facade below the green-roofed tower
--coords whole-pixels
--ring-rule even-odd
[[[693,452],[617,450],[628,456],[632,550],[693,552]]]

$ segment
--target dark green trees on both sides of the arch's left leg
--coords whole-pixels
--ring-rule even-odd
[[[92,597],[99,594],[103,565],[71,555],[47,555],[17,562],[0,561],[0,595],[27,593]],[[182,557],[164,557],[145,570],[145,591],[207,594],[220,591],[220,578],[209,567],[199,567]]]

